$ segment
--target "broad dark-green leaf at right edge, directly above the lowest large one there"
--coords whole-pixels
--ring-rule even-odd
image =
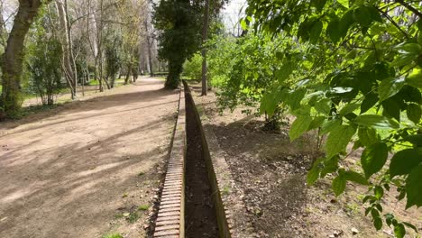
[[[409,174],[410,171],[422,162],[422,151],[407,149],[394,154],[390,162],[390,178],[396,175]]]

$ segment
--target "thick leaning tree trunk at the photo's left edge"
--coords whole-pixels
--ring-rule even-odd
[[[3,116],[16,116],[22,105],[23,43],[40,6],[41,0],[19,1],[19,9],[14,17],[14,26],[9,34],[5,53],[2,57],[3,92],[0,106],[3,107]],[[1,117],[2,115],[0,115]]]

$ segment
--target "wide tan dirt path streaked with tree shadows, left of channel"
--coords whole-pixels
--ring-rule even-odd
[[[0,124],[0,237],[143,237],[137,207],[155,194],[179,99],[162,87],[143,78]]]

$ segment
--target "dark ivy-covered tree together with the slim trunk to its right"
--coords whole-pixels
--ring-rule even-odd
[[[201,47],[206,74],[206,39],[209,23],[216,19],[225,1],[163,0],[154,6],[153,23],[159,32],[159,56],[169,62],[166,87],[179,86],[183,62]],[[205,81],[206,82],[206,81]],[[206,87],[205,87],[206,88]]]

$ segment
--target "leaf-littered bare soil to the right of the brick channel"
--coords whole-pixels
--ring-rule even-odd
[[[332,178],[307,186],[307,169],[320,153],[315,149],[315,135],[309,133],[289,142],[288,125],[280,132],[265,132],[263,118],[242,114],[245,108],[220,114],[214,93],[199,94],[197,91],[195,97],[198,110],[211,121],[240,188],[244,216],[252,222],[256,237],[393,237],[388,225],[377,232],[371,217],[364,215],[366,188],[348,183],[346,193],[335,197]],[[344,166],[356,167],[359,158],[359,152],[352,154]],[[422,208],[405,211],[405,204],[397,202],[393,190],[383,200],[384,213],[393,212],[400,221],[415,224],[422,232]],[[420,237],[411,229],[407,231],[407,237]]]

